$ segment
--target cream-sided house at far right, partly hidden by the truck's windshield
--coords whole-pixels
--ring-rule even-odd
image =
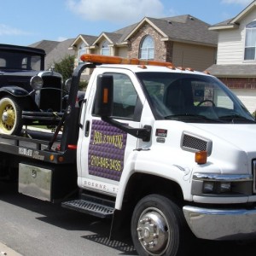
[[[207,70],[234,91],[253,113],[256,109],[256,1],[235,18],[210,26],[218,32],[217,63]]]

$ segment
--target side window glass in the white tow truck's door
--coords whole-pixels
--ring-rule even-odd
[[[108,73],[113,76],[113,118],[137,120],[137,91],[131,79],[121,73]]]

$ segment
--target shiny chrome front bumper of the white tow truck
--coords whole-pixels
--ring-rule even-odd
[[[208,240],[247,240],[256,238],[256,207],[247,210],[217,210],[183,207],[190,230]]]

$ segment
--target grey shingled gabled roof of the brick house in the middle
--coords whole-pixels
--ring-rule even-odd
[[[172,40],[214,47],[218,44],[218,33],[209,31],[209,24],[191,15],[179,15],[161,19],[144,17],[138,23],[125,26],[114,32],[102,32],[98,37],[81,34],[73,41],[70,48],[75,49],[81,40],[87,46],[95,47],[102,38],[106,38],[110,44],[125,45],[128,44],[129,39],[146,23],[153,26],[160,33],[161,40],[163,41]]]

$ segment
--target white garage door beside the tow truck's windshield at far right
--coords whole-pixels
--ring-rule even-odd
[[[256,90],[232,90],[250,113],[256,110]]]

